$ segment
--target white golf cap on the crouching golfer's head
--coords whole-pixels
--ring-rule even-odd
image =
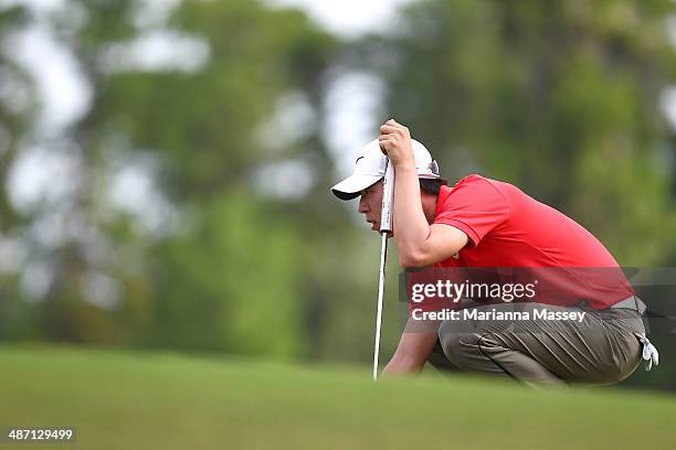
[[[439,165],[432,159],[425,146],[414,139],[411,139],[411,141],[418,178],[440,178]],[[384,176],[385,156],[380,151],[378,139],[370,141],[359,150],[355,164],[355,172],[331,188],[334,195],[340,200],[357,199],[361,191]]]

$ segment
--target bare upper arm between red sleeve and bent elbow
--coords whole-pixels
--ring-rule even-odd
[[[400,260],[403,267],[424,267],[451,258],[467,244],[467,235],[454,226],[432,224],[430,236],[416,255]],[[400,255],[401,257],[401,255]]]

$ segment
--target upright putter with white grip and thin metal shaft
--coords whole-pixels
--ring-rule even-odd
[[[380,213],[380,279],[378,281],[378,309],[376,311],[376,345],[373,349],[373,381],[378,381],[378,356],[380,353],[380,324],[384,294],[385,261],[388,259],[388,233],[392,232],[392,200],[394,197],[394,167],[385,157],[385,175],[382,180],[382,208]]]

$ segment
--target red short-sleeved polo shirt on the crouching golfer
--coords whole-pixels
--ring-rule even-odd
[[[634,293],[599,239],[511,184],[473,174],[453,188],[442,186],[434,223],[451,225],[469,238],[457,255],[435,268],[520,270],[521,281],[528,281],[528,274],[539,283],[536,298],[522,301],[572,306],[585,300],[594,309],[605,309]]]

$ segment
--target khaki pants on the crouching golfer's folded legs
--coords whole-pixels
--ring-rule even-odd
[[[475,303],[476,304],[476,303]],[[429,362],[511,377],[530,385],[613,384],[630,376],[641,362],[644,334],[641,315],[629,309],[595,311],[541,303],[468,307],[477,311],[522,311],[529,320],[446,320]],[[587,312],[584,319],[534,319],[535,310]]]

